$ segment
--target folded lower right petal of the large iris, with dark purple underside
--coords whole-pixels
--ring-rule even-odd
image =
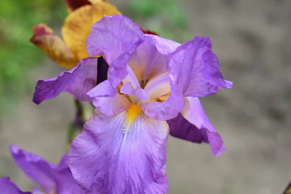
[[[210,123],[197,97],[185,97],[184,109],[168,120],[170,134],[195,143],[209,143],[214,156],[225,150],[223,140]]]

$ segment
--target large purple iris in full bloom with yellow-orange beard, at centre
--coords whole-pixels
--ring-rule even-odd
[[[209,38],[178,44],[144,34],[126,16],[104,16],[87,38],[88,55],[104,56],[107,80],[97,86],[88,58],[57,78],[38,81],[33,101],[69,92],[95,113],[70,146],[69,166],[86,192],[166,194],[166,142],[171,135],[225,150],[197,97],[231,88]]]

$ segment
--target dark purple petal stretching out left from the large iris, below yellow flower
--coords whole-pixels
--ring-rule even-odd
[[[97,58],[87,58],[70,71],[63,71],[58,77],[37,81],[33,102],[58,96],[61,92],[68,92],[78,100],[90,101],[86,93],[96,86]]]

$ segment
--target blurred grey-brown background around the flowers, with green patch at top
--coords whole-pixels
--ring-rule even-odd
[[[183,15],[177,25],[169,21],[171,12],[163,12],[162,6],[157,8],[161,15],[138,16],[144,4],[110,2],[161,36],[179,42],[195,35],[209,36],[225,79],[233,81],[232,89],[201,98],[226,151],[214,158],[206,144],[170,138],[169,194],[282,193],[291,181],[291,1],[179,0],[167,5],[182,10],[175,12],[177,17]],[[154,5],[146,6],[150,12]],[[55,25],[55,32],[61,25]],[[35,82],[63,70],[45,59],[29,70],[30,87],[0,122],[0,172],[23,190],[30,190],[33,183],[16,167],[9,145],[57,163],[75,114],[68,94],[38,106],[32,103]]]

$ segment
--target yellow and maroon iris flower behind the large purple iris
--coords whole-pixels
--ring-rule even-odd
[[[53,35],[46,24],[32,27],[33,36],[30,41],[42,49],[58,65],[66,68],[74,67],[88,57],[86,38],[92,25],[103,15],[121,15],[115,6],[106,0],[65,0],[70,11],[62,27],[62,37]]]

